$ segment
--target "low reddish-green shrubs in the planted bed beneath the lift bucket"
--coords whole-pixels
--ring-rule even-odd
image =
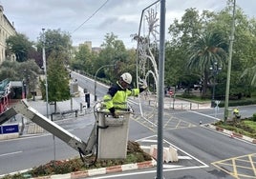
[[[86,162],[94,162],[95,155],[87,156]],[[152,160],[151,156],[148,153],[145,153],[139,147],[139,143],[128,141],[127,145],[127,157],[126,159],[108,159],[108,160],[98,160],[94,165],[85,165],[80,158],[74,158],[69,160],[61,161],[51,161],[45,165],[41,165],[37,168],[26,173],[18,173],[15,175],[6,175],[3,179],[12,179],[12,178],[26,178],[25,175],[37,177],[37,176],[46,176],[51,174],[64,174],[68,172],[85,170],[85,169],[98,169],[98,168],[107,168],[124,164],[139,163],[144,161]],[[14,177],[15,176],[15,177]]]

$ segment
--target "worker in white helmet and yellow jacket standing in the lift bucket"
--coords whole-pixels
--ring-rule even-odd
[[[108,89],[107,94],[103,97],[104,105],[115,118],[117,118],[117,110],[127,111],[129,109],[127,105],[128,96],[137,96],[140,92],[147,89],[145,80],[141,81],[139,89],[130,88],[132,79],[132,75],[129,72],[124,72],[120,75],[117,83]]]

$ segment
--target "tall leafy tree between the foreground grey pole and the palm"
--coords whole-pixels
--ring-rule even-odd
[[[191,71],[187,70],[187,53],[189,46],[195,42],[205,30],[206,24],[212,19],[213,12],[203,10],[185,10],[181,21],[175,19],[169,26],[170,40],[166,44],[166,85],[189,86]],[[200,76],[198,77],[200,79]]]

